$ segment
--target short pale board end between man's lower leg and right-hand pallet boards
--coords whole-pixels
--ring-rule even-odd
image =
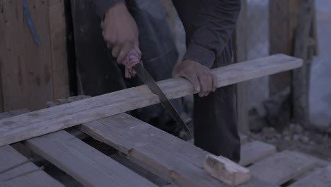
[[[254,141],[241,146],[240,165],[247,166],[276,153],[276,147],[265,142]]]

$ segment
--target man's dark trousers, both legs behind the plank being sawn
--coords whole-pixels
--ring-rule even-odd
[[[187,43],[190,42],[192,35],[194,13],[201,1],[173,1],[185,28]],[[92,7],[90,1],[71,1],[76,63],[83,94],[98,96],[143,84],[138,77],[124,79],[124,69],[110,57],[101,34],[101,19]],[[139,45],[144,67],[156,81],[169,79],[178,53],[161,3],[156,0],[131,0],[128,2],[128,8],[139,28]],[[229,40],[212,68],[233,63],[232,54],[231,40]],[[180,109],[179,102],[172,102]],[[141,108],[132,113],[158,128],[164,127],[170,119],[170,116],[165,115],[161,105]],[[212,154],[239,162],[240,137],[237,129],[236,86],[222,87],[204,98],[194,95],[193,123],[194,145]]]

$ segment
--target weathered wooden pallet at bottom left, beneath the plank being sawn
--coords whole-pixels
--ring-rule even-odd
[[[10,117],[13,113],[17,112],[1,116]],[[225,186],[203,171],[207,152],[130,115],[115,115],[81,125],[78,129],[117,148],[173,186]],[[156,186],[65,130],[23,143],[83,186]],[[45,183],[47,186],[62,186],[11,146],[1,147],[0,156],[4,163],[0,168],[0,186],[25,186],[26,183],[30,186],[45,186]],[[256,185],[272,186],[255,177],[243,186]]]

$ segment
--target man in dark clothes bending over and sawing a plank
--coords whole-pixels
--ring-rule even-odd
[[[95,89],[105,87],[100,86],[103,83],[98,86],[98,81],[101,78],[93,78],[97,74],[104,74],[103,77],[106,76],[107,79],[112,79],[112,85],[118,85],[120,82],[121,85],[129,86],[127,83],[123,83],[122,79],[118,80],[118,77],[121,77],[122,74],[120,70],[116,70],[118,69],[118,67],[115,67],[116,65],[111,62],[95,64],[98,57],[101,57],[100,61],[105,61],[102,56],[105,56],[107,49],[102,49],[100,43],[91,43],[93,40],[99,40],[100,33],[102,33],[107,47],[112,56],[117,58],[117,62],[123,62],[128,52],[133,49],[139,55],[142,52],[143,60],[144,58],[147,59],[144,60],[144,64],[147,63],[145,67],[156,80],[168,78],[171,70],[173,77],[185,77],[190,80],[194,89],[199,93],[194,96],[194,145],[239,162],[240,138],[236,127],[235,87],[226,86],[216,89],[216,78],[211,74],[210,69],[232,63],[231,35],[236,27],[240,0],[173,1],[185,27],[187,38],[187,52],[182,62],[175,68],[171,63],[175,62],[175,59],[172,59],[174,55],[171,55],[174,54],[171,51],[175,48],[171,44],[167,45],[168,40],[159,37],[159,35],[167,37],[166,35],[169,32],[166,33],[164,31],[166,29],[162,29],[160,24],[164,21],[164,17],[157,0],[90,1],[96,13],[98,13],[99,20],[89,12],[90,4],[86,1],[81,0],[80,3],[74,6],[74,23],[80,28],[79,32],[75,30],[76,48],[85,46],[85,50],[95,51],[95,49],[98,49],[92,57],[84,52],[84,54],[79,52],[83,50],[76,49],[77,58],[85,62],[79,62],[83,90],[84,84],[85,87],[95,85],[93,81],[97,82]],[[152,18],[150,18],[151,16]],[[94,18],[94,21],[91,20],[91,17]],[[102,29],[98,34],[95,23],[100,24],[101,20],[103,20]],[[152,29],[153,32],[146,32],[149,28],[156,29]],[[94,29],[93,32],[90,32],[93,34],[87,35],[87,30],[91,29]],[[77,38],[81,38],[81,40]],[[151,38],[156,38],[156,40],[151,41]],[[161,52],[158,51],[162,58],[149,63],[153,61],[151,60],[153,58],[148,56],[153,53],[151,50],[154,50],[154,48],[162,49]],[[168,57],[166,57],[167,54]],[[89,58],[91,59],[88,60]],[[93,69],[97,70],[94,71]],[[101,71],[100,69],[112,69],[112,74],[107,74],[105,70]],[[165,72],[168,71],[168,73],[161,76],[160,69],[165,70]],[[121,89],[121,86],[118,87],[103,92]],[[92,92],[88,94],[96,95]]]

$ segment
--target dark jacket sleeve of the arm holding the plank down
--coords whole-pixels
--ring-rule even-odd
[[[240,0],[203,0],[192,26],[184,59],[211,67],[228,44],[240,12]]]

